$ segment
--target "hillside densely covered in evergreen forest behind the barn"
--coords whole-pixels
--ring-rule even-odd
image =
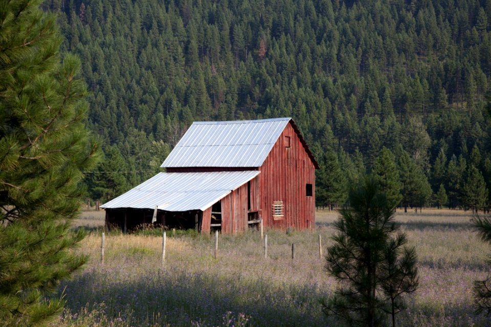
[[[152,175],[195,120],[291,116],[322,167],[318,205],[363,169],[404,206],[489,202],[491,0],[45,6],[91,90],[93,199]]]

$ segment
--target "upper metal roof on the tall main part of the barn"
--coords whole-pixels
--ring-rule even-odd
[[[161,167],[260,167],[291,120],[194,122]]]

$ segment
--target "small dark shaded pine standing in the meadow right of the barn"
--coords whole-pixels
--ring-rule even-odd
[[[339,286],[323,302],[324,312],[353,326],[381,326],[387,314],[403,308],[400,297],[418,284],[414,248],[394,223],[395,206],[373,176],[364,176],[349,193],[347,209],[334,223],[326,270]]]

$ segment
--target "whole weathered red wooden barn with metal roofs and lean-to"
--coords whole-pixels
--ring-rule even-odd
[[[315,226],[314,156],[291,118],[195,122],[159,173],[101,207],[122,229]]]

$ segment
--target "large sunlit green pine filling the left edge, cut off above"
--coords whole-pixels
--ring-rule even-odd
[[[56,17],[40,0],[0,6],[0,325],[48,320],[46,299],[86,261],[71,232],[84,193],[82,171],[98,157],[84,122],[80,61],[60,63]]]

